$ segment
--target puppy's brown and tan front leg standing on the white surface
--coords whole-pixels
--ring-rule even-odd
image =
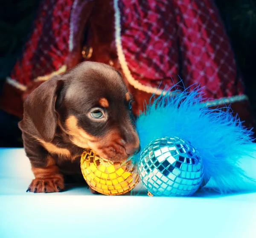
[[[64,189],[64,178],[59,172],[55,160],[43,146],[28,136],[23,136],[23,142],[32,172],[35,175],[35,179],[30,183],[27,192],[59,192]]]

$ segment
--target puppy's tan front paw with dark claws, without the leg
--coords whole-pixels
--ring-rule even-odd
[[[26,192],[60,192],[62,189],[64,189],[63,178],[52,177],[32,180]]]

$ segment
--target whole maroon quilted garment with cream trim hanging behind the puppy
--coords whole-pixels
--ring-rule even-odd
[[[84,60],[122,70],[135,113],[165,87],[200,84],[214,106],[247,105],[248,120],[241,75],[212,0],[42,0],[0,107],[22,117],[27,93]]]

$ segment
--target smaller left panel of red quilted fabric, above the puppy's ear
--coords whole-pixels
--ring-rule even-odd
[[[70,13],[73,0],[44,0],[39,7],[32,35],[11,78],[27,85],[58,70],[69,54]]]

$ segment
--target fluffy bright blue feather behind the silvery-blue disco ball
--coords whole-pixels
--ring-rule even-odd
[[[239,160],[250,155],[244,145],[253,144],[253,133],[238,116],[232,116],[230,107],[204,107],[201,91],[199,87],[190,91],[171,88],[165,95],[153,96],[137,119],[141,148],[165,136],[190,141],[201,153],[205,176],[216,190],[226,193],[244,183],[246,175]],[[139,155],[132,159],[138,162]]]

